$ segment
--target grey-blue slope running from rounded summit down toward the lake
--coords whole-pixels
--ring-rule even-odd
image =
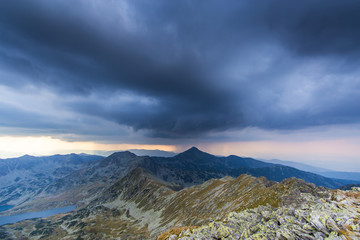
[[[136,168],[142,159],[144,157],[126,151],[93,161],[61,178],[44,183],[39,193],[11,209],[11,214],[86,204]]]

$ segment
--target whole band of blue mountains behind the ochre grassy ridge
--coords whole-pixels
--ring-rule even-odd
[[[328,188],[357,183],[252,158],[215,156],[195,147],[174,157],[137,156],[129,151],[106,158],[86,154],[23,156],[0,161],[0,205],[15,205],[14,213],[85,204],[136,168],[171,183],[174,190],[241,174],[277,182],[296,177]]]

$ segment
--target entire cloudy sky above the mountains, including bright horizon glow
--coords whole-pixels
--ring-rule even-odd
[[[125,149],[360,171],[358,0],[2,0],[0,158]]]

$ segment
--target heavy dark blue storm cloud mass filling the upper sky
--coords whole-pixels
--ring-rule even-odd
[[[359,10],[355,0],[5,0],[0,69],[25,77],[0,83],[81,96],[64,106],[156,137],[353,123]],[[123,92],[130,100],[116,100]]]

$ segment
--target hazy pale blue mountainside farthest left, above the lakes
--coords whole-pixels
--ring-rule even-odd
[[[49,184],[102,159],[87,154],[0,159],[0,205],[33,199]]]

